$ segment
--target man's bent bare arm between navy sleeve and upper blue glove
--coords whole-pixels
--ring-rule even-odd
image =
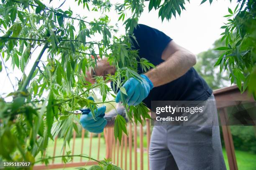
[[[163,63],[146,72],[154,87],[167,84],[184,75],[196,63],[196,57],[187,49],[171,41],[164,49]]]

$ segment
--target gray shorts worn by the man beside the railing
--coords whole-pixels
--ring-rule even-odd
[[[212,95],[207,100],[215,99]],[[212,125],[154,126],[150,170],[226,170],[216,106],[209,104],[205,109]]]

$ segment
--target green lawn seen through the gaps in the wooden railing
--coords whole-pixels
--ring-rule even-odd
[[[143,140],[143,144],[144,147],[146,147],[145,145],[145,141],[146,139],[144,138]],[[137,141],[138,147],[139,147],[139,140]],[[62,147],[62,143],[63,143],[63,139],[59,139],[57,140],[57,145],[56,145],[56,156],[57,155],[62,155],[61,152],[61,147]],[[81,138],[76,138],[75,140],[75,148],[74,148],[74,155],[76,154],[80,154],[81,153],[81,143],[82,143],[82,139]],[[89,145],[90,145],[90,140],[89,138],[84,138],[84,149],[83,149],[83,153],[89,155]],[[67,147],[67,150],[72,150],[72,146],[73,146],[73,140],[70,141],[70,148]],[[52,156],[53,155],[53,148],[54,148],[54,142],[53,141],[49,141],[49,146],[46,150],[46,155],[48,156]],[[92,138],[92,154],[91,157],[96,158],[97,159],[97,150],[98,149],[98,138]],[[100,142],[100,160],[102,160],[105,157],[106,154],[106,145],[104,142],[104,139],[101,138],[101,142]],[[227,169],[228,168],[228,158],[227,158],[227,154],[225,149],[223,149],[223,155],[224,155],[224,159],[225,159],[225,163],[227,165]],[[36,159],[38,159],[40,157],[40,155],[38,155],[38,157]],[[132,157],[133,157],[133,163],[132,166],[134,166],[134,152],[132,152]],[[137,157],[138,157],[138,170],[140,169],[140,152],[138,150],[137,152]],[[127,155],[127,159],[129,159],[129,151],[128,151],[128,155]],[[238,163],[238,169],[239,170],[256,170],[256,154],[251,154],[248,152],[244,152],[244,151],[239,151],[236,150],[236,159],[237,159],[237,163]],[[85,161],[86,159],[83,158],[83,161]],[[115,163],[117,158],[115,158]],[[148,169],[148,160],[147,160],[147,154],[144,152],[143,154],[143,167],[145,170]],[[74,162],[79,162],[80,161],[80,157],[74,157]],[[123,151],[123,161],[124,161],[124,151]],[[51,162],[51,161],[50,161]],[[54,160],[55,163],[60,163],[61,162],[61,158],[56,158]],[[127,162],[128,168],[129,168],[129,162]],[[120,166],[120,152],[119,152],[119,166]],[[123,166],[124,166],[124,162],[123,162]],[[65,170],[71,170],[74,168],[61,168],[61,169],[65,169]],[[134,168],[133,168],[134,169]]]

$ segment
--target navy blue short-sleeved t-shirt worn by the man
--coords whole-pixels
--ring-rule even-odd
[[[138,24],[133,34],[137,41],[134,41],[132,38],[133,46],[138,50],[140,58],[146,58],[155,66],[164,62],[161,59],[161,55],[167,44],[172,41],[172,38],[155,28],[143,24]],[[141,66],[138,66],[138,73],[142,74]],[[192,67],[178,79],[162,86],[154,87],[143,102],[151,109],[151,101],[154,100],[204,101],[211,94],[212,89],[210,89],[205,80]]]

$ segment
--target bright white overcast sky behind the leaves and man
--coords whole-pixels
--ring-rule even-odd
[[[48,3],[49,0],[46,0]],[[59,7],[59,5],[63,1],[60,2],[53,1],[51,5],[54,7]],[[65,10],[69,7],[77,14],[82,16],[87,16],[89,19],[98,18],[100,16],[99,13],[88,12],[87,9],[83,9],[81,6],[77,6],[77,2],[69,4],[69,0],[61,7],[61,9]],[[200,5],[201,0],[190,0],[190,3],[185,5],[186,10],[182,11],[181,16],[174,17],[168,22],[164,20],[161,22],[161,19],[158,18],[158,12],[151,10],[148,13],[148,7],[144,8],[144,12],[139,19],[139,23],[151,26],[153,28],[157,28],[166,35],[170,36],[176,43],[187,48],[189,51],[197,54],[202,51],[206,51],[207,49],[212,47],[212,43],[215,40],[220,38],[220,33],[223,30],[220,29],[226,22],[226,18],[223,18],[224,15],[228,14],[228,7],[232,10],[236,7],[235,0],[230,3],[229,0],[214,0],[210,5],[207,1],[206,3]],[[148,5],[148,2],[146,2]],[[111,11],[108,13],[108,16],[111,18],[111,24],[115,24],[118,21],[118,16],[115,11]],[[124,33],[124,28],[122,28],[122,24],[118,24],[120,28],[120,33]],[[97,37],[96,37],[97,38]],[[40,48],[38,48],[34,52],[34,56],[39,53]],[[10,61],[10,60],[9,60]],[[26,73],[30,70],[33,61],[29,62],[28,67],[26,69]],[[18,69],[14,69],[14,71],[10,67],[10,62],[5,63],[6,66],[9,67],[9,76],[13,82],[16,84],[15,77],[20,79],[21,73]],[[10,81],[7,78],[7,74],[5,69],[0,73],[0,96],[2,94],[8,94],[13,91],[13,88],[10,84]]]

